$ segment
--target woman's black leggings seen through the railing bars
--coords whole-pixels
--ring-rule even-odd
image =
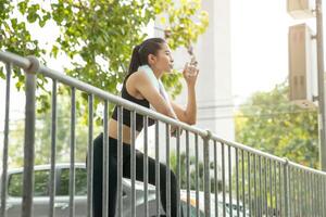
[[[117,183],[117,140],[109,138],[109,217],[114,217]],[[123,145],[123,177],[130,178],[130,144]],[[93,141],[93,216],[102,217],[103,133]],[[143,154],[136,150],[136,180],[143,181]],[[155,159],[148,157],[148,182],[155,186]],[[160,164],[160,195],[166,210],[166,166]],[[171,170],[171,217],[177,216],[177,180]]]

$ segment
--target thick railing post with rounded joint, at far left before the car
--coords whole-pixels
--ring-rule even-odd
[[[36,73],[39,68],[37,59],[28,58],[30,65],[26,72],[26,104],[25,104],[25,136],[24,136],[24,177],[22,217],[33,216],[34,189],[34,144],[35,144],[35,107],[36,107]]]

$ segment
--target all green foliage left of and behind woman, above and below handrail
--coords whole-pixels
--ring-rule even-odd
[[[176,7],[178,5],[178,7]],[[117,94],[117,87],[126,75],[131,50],[139,44],[147,35],[143,29],[159,14],[165,14],[168,23],[164,23],[170,30],[168,43],[173,49],[189,46],[208,27],[208,14],[200,10],[199,0],[183,0],[174,3],[171,0],[0,0],[0,50],[10,51],[23,56],[35,55],[42,64],[50,58],[65,56],[72,66],[65,68],[70,76],[100,89]],[[49,37],[47,47],[35,39],[37,33],[45,33],[47,25],[60,29],[59,36]],[[33,28],[30,28],[33,27]],[[36,33],[37,31],[37,33]],[[51,41],[53,40],[53,41]],[[49,47],[50,46],[50,47]],[[25,75],[14,67],[13,78],[18,90],[24,90]],[[4,78],[4,68],[0,67],[0,78]],[[171,88],[172,95],[180,92],[180,75],[164,78],[164,85]],[[38,75],[37,79],[37,135],[36,164],[49,162],[50,150],[50,101],[48,80]],[[59,95],[70,93],[68,88],[59,88]],[[82,95],[82,97],[80,97]],[[87,94],[77,98],[77,116],[82,125],[76,130],[77,161],[85,159],[87,132]],[[58,161],[65,161],[68,148],[70,120],[68,100],[60,102],[64,108],[58,108]],[[95,99],[95,111],[102,102]],[[110,111],[113,108],[110,104]],[[99,115],[95,123],[101,125]],[[17,129],[12,129],[10,156],[12,165],[22,165],[23,130],[20,123]],[[84,143],[83,143],[84,142]],[[82,145],[83,144],[83,145]],[[79,149],[79,145],[83,148]],[[18,151],[17,151],[18,150]]]

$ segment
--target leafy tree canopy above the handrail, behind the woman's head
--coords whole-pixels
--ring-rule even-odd
[[[208,27],[208,14],[200,0],[57,0],[0,1],[0,49],[21,55],[67,56],[72,67],[66,73],[96,87],[117,93],[127,71],[131,49],[146,38],[143,28],[160,17],[168,33],[172,49],[189,47]],[[28,26],[41,31],[54,24],[60,35],[50,49],[34,39]],[[105,64],[103,64],[105,63]],[[16,86],[24,75],[15,68]],[[4,78],[3,68],[0,77]],[[164,79],[172,94],[180,91],[180,76]],[[47,81],[38,82],[45,88]]]

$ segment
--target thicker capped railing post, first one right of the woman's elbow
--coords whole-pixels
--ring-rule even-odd
[[[208,136],[203,138],[203,151],[204,151],[204,213],[205,216],[211,216],[210,204],[211,204],[211,182],[210,182],[210,139],[212,132],[206,130]]]

